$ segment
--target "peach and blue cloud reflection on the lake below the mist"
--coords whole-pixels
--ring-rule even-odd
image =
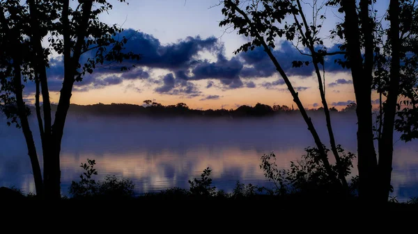
[[[211,147],[212,148],[212,147]],[[163,190],[167,187],[188,187],[187,180],[199,177],[203,169],[212,168],[212,178],[215,185],[225,189],[240,180],[242,183],[256,183],[265,181],[263,172],[259,169],[259,153],[252,150],[242,151],[234,148],[206,149],[197,147],[184,152],[162,150],[158,156],[149,156],[146,152],[125,153],[124,155],[107,154],[95,158],[98,179],[106,174],[116,174],[125,178],[132,178],[138,193]],[[283,152],[287,157],[297,158],[300,154],[291,151]],[[90,156],[86,156],[90,157]],[[90,157],[91,158],[91,157]],[[75,157],[63,155],[61,160],[62,182],[70,183],[82,173],[82,168],[75,168],[85,158],[75,160]],[[279,165],[286,165],[288,161],[278,157]],[[218,185],[219,184],[219,185]]]

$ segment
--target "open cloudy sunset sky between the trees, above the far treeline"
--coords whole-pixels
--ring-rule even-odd
[[[76,83],[72,103],[134,103],[150,99],[190,108],[236,108],[256,103],[292,106],[293,98],[271,60],[261,48],[247,53],[233,51],[248,39],[228,28],[218,0],[127,0],[101,19],[125,28],[126,49],[141,60],[128,72],[95,69]],[[327,9],[324,31],[339,20],[336,9]],[[341,16],[340,16],[341,17]],[[335,51],[338,41],[325,42]],[[318,108],[320,94],[313,67],[293,68],[293,60],[309,60],[290,42],[279,40],[273,53],[288,74],[305,108]],[[348,69],[325,62],[325,92],[329,106],[343,108],[355,100]],[[63,69],[59,58],[48,69],[52,102],[59,100]]]

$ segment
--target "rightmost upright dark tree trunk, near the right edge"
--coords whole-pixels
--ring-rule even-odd
[[[389,41],[392,45],[392,60],[390,66],[390,81],[387,100],[384,108],[385,122],[382,128],[382,138],[379,142],[379,194],[381,202],[389,197],[390,181],[392,176],[392,158],[394,151],[394,121],[396,115],[396,103],[399,95],[400,82],[400,50],[399,39],[399,1],[391,0],[389,4],[390,34]]]

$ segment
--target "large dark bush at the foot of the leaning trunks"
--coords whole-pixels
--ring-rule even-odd
[[[346,153],[341,145],[337,145],[336,149],[341,155],[340,167],[342,167],[344,176],[348,176],[351,168],[353,168],[355,155],[350,152]],[[323,162],[318,159],[318,149],[308,147],[305,151],[307,153],[302,156],[301,160],[291,161],[290,169],[279,169],[274,153],[265,154],[261,157],[260,168],[263,169],[264,176],[275,185],[272,192],[278,195],[341,193],[341,184],[336,177],[340,168],[337,165],[332,165],[332,174],[329,174]],[[329,149],[326,149],[326,151],[328,152]],[[355,190],[355,181],[357,181],[357,178],[353,178],[352,192]]]

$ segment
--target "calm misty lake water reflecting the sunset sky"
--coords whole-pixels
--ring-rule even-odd
[[[323,142],[323,119],[313,117]],[[33,133],[38,136],[35,119]],[[356,151],[353,115],[333,117],[337,144]],[[0,120],[0,186],[34,192],[29,156],[22,132]],[[38,151],[41,147],[37,139]],[[288,167],[314,141],[299,115],[267,119],[144,119],[71,117],[65,126],[61,154],[62,193],[78,181],[86,158],[95,159],[98,179],[107,174],[134,181],[135,192],[188,187],[187,180],[213,169],[213,183],[230,192],[236,181],[270,186],[259,168],[263,153],[274,151],[277,165]],[[392,184],[398,199],[418,196],[418,141],[394,145]],[[42,158],[40,158],[42,162]],[[357,165],[357,162],[355,162]],[[357,169],[353,169],[357,174]]]

